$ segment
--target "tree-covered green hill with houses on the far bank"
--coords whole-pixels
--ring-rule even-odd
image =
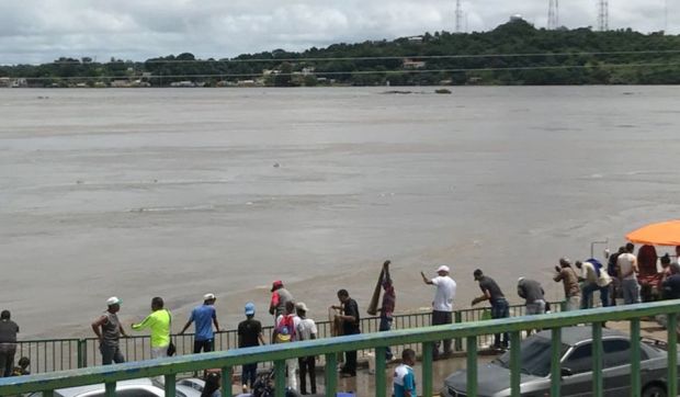
[[[0,84],[34,87],[677,84],[680,36],[632,30],[537,30],[519,20],[490,32],[282,49],[231,59],[60,58],[0,67]]]

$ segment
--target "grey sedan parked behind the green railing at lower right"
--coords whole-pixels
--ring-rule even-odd
[[[592,328],[562,329],[562,396],[592,394]],[[631,340],[620,331],[602,329],[602,368],[605,396],[631,395]],[[644,397],[667,396],[667,352],[655,341],[641,341],[641,385]],[[676,353],[677,354],[677,353]],[[551,389],[551,331],[535,333],[521,343],[521,395],[547,396]],[[467,372],[444,381],[442,397],[465,397]],[[480,397],[510,396],[510,352],[477,368]]]

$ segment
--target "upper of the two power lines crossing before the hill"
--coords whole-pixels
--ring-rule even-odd
[[[651,54],[680,54],[680,49],[645,49],[621,52],[578,52],[578,53],[494,53],[494,54],[456,54],[456,55],[399,55],[399,56],[370,56],[370,57],[328,57],[328,58],[253,58],[253,59],[151,59],[135,61],[132,64],[249,64],[249,63],[321,63],[342,60],[401,60],[409,59],[474,59],[474,58],[521,58],[521,57],[569,57],[569,56],[600,56],[600,55],[651,55]],[[120,63],[106,63],[111,65]],[[79,60],[55,60],[43,65],[88,65]],[[35,65],[38,66],[38,65]]]

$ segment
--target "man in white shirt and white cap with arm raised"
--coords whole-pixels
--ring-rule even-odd
[[[451,311],[453,310],[453,298],[455,297],[456,283],[449,276],[450,269],[443,264],[437,269],[437,277],[428,280],[423,272],[420,272],[422,282],[428,285],[437,286],[434,293],[434,300],[432,302],[432,325],[440,326],[444,324],[452,324],[453,317]],[[451,339],[443,341],[444,355],[451,354]],[[434,360],[439,359],[439,342],[434,343],[434,350],[432,352]]]

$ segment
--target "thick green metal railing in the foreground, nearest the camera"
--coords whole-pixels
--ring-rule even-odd
[[[106,384],[106,396],[115,395],[115,383],[139,377],[165,376],[166,395],[174,396],[177,374],[196,372],[207,368],[222,368],[223,374],[230,374],[237,365],[256,362],[274,362],[276,396],[282,397],[285,390],[285,360],[308,355],[326,356],[326,396],[335,396],[337,390],[337,353],[348,350],[373,349],[376,355],[375,396],[386,396],[385,348],[419,343],[422,347],[422,395],[432,396],[432,344],[442,339],[464,339],[467,345],[467,396],[477,396],[477,339],[488,333],[510,332],[512,347],[519,347],[520,332],[526,329],[552,329],[552,368],[551,396],[560,395],[562,354],[560,330],[563,327],[579,324],[592,325],[592,395],[603,395],[602,371],[602,322],[630,320],[631,334],[639,336],[639,319],[644,317],[668,316],[668,366],[667,392],[669,396],[678,394],[678,349],[677,349],[677,313],[680,300],[665,300],[650,304],[638,304],[617,307],[605,307],[577,311],[555,313],[540,316],[511,317],[505,319],[472,321],[426,328],[399,329],[389,332],[372,332],[347,337],[318,339],[311,341],[264,345],[247,349],[234,349],[203,354],[190,354],[169,359],[148,360],[110,366],[98,366],[72,371],[61,371],[32,376],[20,376],[0,379],[0,395],[12,395],[29,392],[44,392],[52,396],[52,390],[64,387],[88,384]],[[631,384],[639,386],[639,340],[631,351]],[[510,389],[512,396],[520,396],[520,349],[510,350]],[[223,376],[222,395],[231,396],[230,376]],[[632,390],[632,396],[639,396],[639,387]]]

